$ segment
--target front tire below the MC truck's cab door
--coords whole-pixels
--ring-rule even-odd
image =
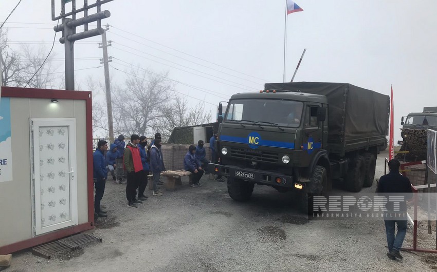
[[[316,165],[311,177],[311,182],[307,188],[309,192],[303,192],[301,198],[301,210],[307,215],[313,215],[318,211],[314,211],[314,196],[325,196],[327,193],[327,171],[326,168]]]

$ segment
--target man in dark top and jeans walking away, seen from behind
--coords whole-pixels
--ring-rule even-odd
[[[387,245],[389,248],[387,256],[392,260],[395,260],[396,258],[402,260],[403,257],[400,255],[399,250],[402,247],[405,234],[407,233],[406,201],[412,197],[411,183],[407,177],[402,176],[402,174],[399,173],[400,163],[398,160],[391,160],[388,165],[390,173],[379,179],[377,192],[380,194],[396,193],[396,196],[398,196],[399,193],[403,193],[403,196],[405,196],[405,201],[399,203],[398,210],[394,208],[393,202],[389,201],[386,205],[387,211],[385,211],[384,216],[387,232]],[[394,232],[396,224],[397,234],[395,236]]]

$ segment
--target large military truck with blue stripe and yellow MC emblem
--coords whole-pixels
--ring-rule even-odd
[[[219,105],[219,162],[236,201],[254,184],[295,191],[308,211],[333,180],[358,192],[375,176],[378,147],[386,141],[390,98],[346,83],[267,83],[260,92],[231,96]]]

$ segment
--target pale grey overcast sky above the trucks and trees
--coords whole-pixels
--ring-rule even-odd
[[[0,0],[0,22],[17,2]],[[437,106],[437,1],[296,3],[304,11],[288,15],[287,81],[306,48],[295,81],[346,82],[384,94],[393,84],[396,129],[402,115]],[[114,0],[102,9],[111,11],[103,24],[114,26],[107,33],[114,42],[109,54],[119,59],[112,67],[125,70],[123,65],[129,63],[169,71],[171,79],[202,89],[176,86],[177,91],[204,100],[211,112],[233,93],[282,81],[285,0]],[[51,47],[56,22],[51,21],[50,1],[23,0],[8,22],[10,41],[44,42],[47,50]],[[54,52],[62,59],[59,37],[58,33]],[[92,37],[75,45],[75,69],[100,66],[99,40],[100,36]],[[62,60],[56,63],[63,71]],[[122,84],[125,74],[112,67],[113,81]],[[88,74],[102,80],[103,68],[77,71],[76,79],[84,80]]]

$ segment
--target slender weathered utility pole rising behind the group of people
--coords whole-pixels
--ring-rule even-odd
[[[103,59],[100,59],[100,64],[103,64],[105,69],[105,87],[106,87],[106,108],[108,112],[108,129],[110,142],[114,141],[114,123],[112,119],[112,100],[111,100],[111,80],[109,76],[109,64],[112,62],[112,57],[108,57],[108,46],[111,46],[111,41],[106,42],[106,31],[109,30],[109,25],[102,34],[102,43],[99,48],[103,48]]]

